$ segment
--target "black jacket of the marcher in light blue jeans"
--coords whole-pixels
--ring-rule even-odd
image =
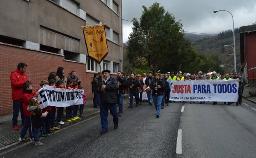
[[[160,85],[161,88],[158,88],[157,90],[155,90],[155,87],[157,87],[157,85]],[[166,84],[166,82],[164,82],[164,80],[157,80],[156,78],[154,78],[152,80],[152,82],[150,83],[150,89],[153,90],[152,92],[152,96],[161,96],[163,95],[163,92],[166,90],[166,88],[168,87],[168,84]]]

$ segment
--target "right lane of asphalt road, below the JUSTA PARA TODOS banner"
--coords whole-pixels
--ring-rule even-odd
[[[179,126],[182,154],[177,157],[256,158],[256,109],[244,103],[185,104]]]

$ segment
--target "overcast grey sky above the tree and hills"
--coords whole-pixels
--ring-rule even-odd
[[[235,27],[251,25],[256,22],[256,0],[122,0],[123,19],[140,18],[142,5],[147,8],[154,2],[164,6],[180,20],[185,31],[218,34],[233,29],[232,17],[226,11],[213,13],[214,10],[228,10],[233,14]],[[123,42],[128,40],[132,23],[123,21]]]

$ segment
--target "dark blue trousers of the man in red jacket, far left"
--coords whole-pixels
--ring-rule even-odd
[[[24,123],[24,114],[22,109],[22,102],[20,101],[13,101],[12,102],[12,127],[18,124],[18,111],[21,109],[21,122]]]

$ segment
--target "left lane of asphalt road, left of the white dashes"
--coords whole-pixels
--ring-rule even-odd
[[[155,107],[143,102],[124,109],[114,129],[108,116],[108,133],[100,135],[100,117],[42,139],[44,146],[32,144],[5,153],[4,158],[168,158],[176,151],[181,104],[166,106],[160,118]]]

